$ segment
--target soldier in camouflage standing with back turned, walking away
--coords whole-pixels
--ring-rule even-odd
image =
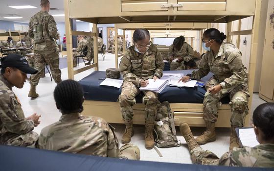
[[[30,91],[28,97],[37,98],[36,86],[45,69],[46,63],[56,83],[61,82],[61,70],[59,69],[59,51],[56,48],[55,40],[59,39],[54,18],[48,14],[50,4],[48,0],[41,0],[41,11],[30,18],[28,35],[34,39],[34,68],[37,74],[31,75]]]

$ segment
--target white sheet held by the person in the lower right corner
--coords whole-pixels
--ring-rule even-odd
[[[239,139],[243,146],[255,147],[259,145],[253,128],[239,129]]]

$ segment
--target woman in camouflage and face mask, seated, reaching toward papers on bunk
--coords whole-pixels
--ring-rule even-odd
[[[201,79],[209,72],[214,73],[213,77],[206,83],[207,92],[204,98],[206,131],[197,137],[196,141],[203,145],[216,140],[215,122],[218,118],[220,100],[229,96],[232,114],[229,146],[231,150],[233,147],[239,147],[235,128],[244,126],[250,96],[246,68],[242,64],[241,52],[234,45],[223,43],[226,37],[224,33],[220,33],[215,28],[207,29],[203,34],[203,47],[207,52],[201,59],[199,69],[184,76],[181,80],[187,81],[190,77]]]

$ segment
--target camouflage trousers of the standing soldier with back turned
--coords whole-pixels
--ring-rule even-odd
[[[56,83],[61,82],[61,70],[59,69],[59,52],[57,50],[38,51],[34,50],[34,68],[38,73],[31,75],[30,84],[37,86],[44,71],[46,63],[50,67],[51,75]]]

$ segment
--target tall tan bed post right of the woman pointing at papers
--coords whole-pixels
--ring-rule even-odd
[[[253,17],[253,24],[252,24],[251,55],[250,55],[249,74],[248,74],[248,77],[249,77],[248,86],[249,86],[249,92],[250,92],[250,99],[248,103],[249,115],[247,115],[246,121],[250,121],[250,118],[251,118],[251,102],[252,102],[253,87],[254,87],[254,81],[255,81],[261,3],[262,3],[262,0],[256,0],[255,15]],[[247,124],[245,125],[247,126]]]

